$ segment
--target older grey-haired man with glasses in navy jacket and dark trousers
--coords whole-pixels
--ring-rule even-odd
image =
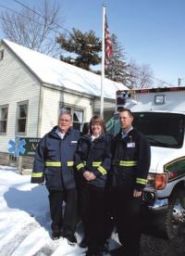
[[[59,115],[58,125],[45,134],[37,147],[31,183],[43,184],[49,191],[52,237],[66,237],[70,245],[78,221],[77,190],[74,177],[74,153],[80,132],[71,128],[71,115]],[[62,204],[66,202],[63,213]]]

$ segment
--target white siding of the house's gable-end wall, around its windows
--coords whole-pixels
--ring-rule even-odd
[[[3,49],[0,45],[0,50]],[[8,141],[14,140],[16,131],[17,103],[29,101],[26,136],[37,136],[37,119],[40,86],[28,69],[8,49],[0,60],[0,106],[8,104],[6,135],[0,135],[0,151],[7,152]],[[24,136],[24,135],[22,135]]]

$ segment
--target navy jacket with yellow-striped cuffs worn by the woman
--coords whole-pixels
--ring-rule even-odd
[[[89,182],[82,177],[84,182],[104,188],[111,167],[111,136],[101,134],[92,141],[90,134],[82,135],[75,154],[75,164],[81,177],[85,171],[96,176]]]

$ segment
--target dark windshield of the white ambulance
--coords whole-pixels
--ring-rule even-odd
[[[151,146],[182,147],[184,116],[172,113],[134,113],[133,126],[142,132]]]

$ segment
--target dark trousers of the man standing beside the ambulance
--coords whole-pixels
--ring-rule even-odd
[[[112,191],[113,215],[119,242],[124,255],[139,256],[141,240],[142,198],[133,198],[132,192]]]

